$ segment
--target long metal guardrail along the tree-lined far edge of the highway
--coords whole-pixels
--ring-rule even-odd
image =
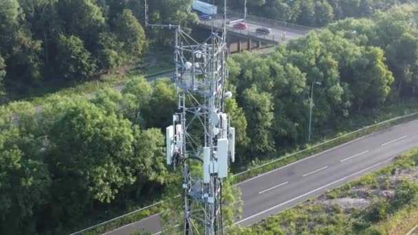
[[[274,160],[272,160],[272,161],[270,161],[270,162],[267,162],[267,163],[265,163],[265,164],[262,164],[262,165],[260,165],[260,166],[256,166],[255,168],[251,168],[251,169],[249,169],[249,170],[245,170],[245,171],[243,171],[243,172],[236,173],[236,174],[235,174],[235,175],[233,175],[233,176],[234,176],[234,177],[236,177],[236,176],[240,176],[240,175],[243,175],[243,174],[245,174],[245,173],[248,173],[248,172],[252,172],[253,170],[257,170],[257,169],[263,168],[263,167],[268,166],[268,165],[270,165],[270,164],[274,164],[274,163],[275,163],[275,162],[277,162],[277,161],[280,161],[280,160],[283,160],[283,159],[287,159],[287,158],[289,158],[289,157],[293,157],[293,156],[298,155],[298,154],[300,154],[300,153],[305,153],[305,152],[307,152],[307,151],[309,151],[309,150],[311,150],[311,149],[313,149],[313,148],[318,148],[318,147],[320,147],[320,146],[324,146],[325,144],[329,144],[329,143],[334,142],[334,141],[336,141],[336,140],[338,140],[338,139],[342,139],[342,138],[347,137],[347,136],[349,136],[349,135],[353,135],[353,134],[355,134],[355,133],[359,133],[360,131],[365,131],[365,130],[370,129],[370,128],[373,128],[373,127],[375,127],[375,126],[379,126],[379,125],[386,124],[386,123],[389,123],[389,122],[393,122],[393,121],[396,121],[396,120],[401,120],[401,119],[403,119],[403,118],[407,118],[407,117],[412,117],[412,116],[414,116],[414,115],[418,115],[418,112],[415,112],[415,113],[410,113],[410,114],[403,115],[403,116],[399,116],[399,117],[395,117],[395,118],[392,118],[392,119],[390,119],[390,120],[386,120],[386,121],[383,121],[383,122],[379,122],[379,123],[377,123],[377,124],[373,124],[373,125],[370,125],[370,126],[366,126],[366,127],[364,127],[364,128],[360,128],[360,129],[358,129],[357,131],[352,131],[352,132],[350,132],[350,133],[347,133],[347,134],[341,135],[340,137],[336,137],[336,138],[334,138],[334,139],[330,139],[330,140],[328,140],[328,141],[326,141],[326,142],[322,142],[321,144],[316,144],[315,146],[311,146],[311,147],[309,147],[309,148],[305,148],[304,150],[300,150],[300,151],[298,151],[298,152],[296,152],[296,153],[292,153],[292,154],[290,154],[290,155],[286,155],[286,156],[284,156],[284,157],[280,157],[280,158],[278,158],[278,159],[274,159]],[[269,171],[267,171],[267,172],[269,172]],[[242,183],[242,182],[241,182],[241,183]],[[233,186],[236,186],[236,185],[238,185],[238,184],[239,184],[239,183],[235,183]],[[181,195],[177,195],[177,196],[175,196],[175,197],[180,197],[180,196],[181,196]],[[124,214],[124,215],[122,215],[122,216],[118,216],[118,217],[116,217],[116,218],[114,218],[114,219],[111,219],[111,220],[109,220],[109,221],[105,221],[105,222],[100,223],[100,224],[98,224],[98,225],[94,225],[94,226],[88,227],[88,228],[87,228],[87,229],[85,229],[85,230],[80,230],[80,231],[75,232],[75,233],[70,234],[70,235],[76,235],[76,234],[80,234],[80,233],[82,233],[82,232],[87,232],[87,231],[89,231],[89,230],[94,230],[94,229],[95,229],[95,228],[97,228],[97,227],[100,227],[100,226],[102,226],[102,225],[107,225],[107,224],[109,224],[109,223],[111,223],[111,222],[113,222],[113,221],[116,221],[116,220],[118,220],[118,219],[123,218],[124,216],[129,216],[130,214],[135,214],[136,212],[140,212],[140,211],[145,210],[145,209],[148,209],[148,208],[153,208],[154,206],[156,206],[156,205],[160,205],[161,203],[163,203],[163,201],[159,201],[158,203],[154,203],[153,205],[148,205],[148,206],[146,206],[145,208],[140,208],[140,209],[135,210],[135,211],[133,211],[133,212],[129,212],[128,214]]]

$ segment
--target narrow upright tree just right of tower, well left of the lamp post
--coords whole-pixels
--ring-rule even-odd
[[[272,124],[274,120],[272,95],[260,91],[256,86],[245,89],[242,94],[245,117],[248,120],[247,134],[251,138],[252,158],[260,153],[274,151]]]

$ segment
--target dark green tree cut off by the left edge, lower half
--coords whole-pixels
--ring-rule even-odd
[[[0,107],[0,232],[35,234],[37,215],[50,202],[50,173],[41,158],[40,139],[25,124],[14,124],[14,111],[19,111],[19,121],[21,117],[36,126],[28,103]]]

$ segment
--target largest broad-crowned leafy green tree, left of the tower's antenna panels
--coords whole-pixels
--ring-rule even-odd
[[[54,107],[58,117],[47,133],[47,161],[59,207],[48,214],[58,221],[77,219],[94,201],[110,203],[122,186],[135,181],[135,137],[131,122],[85,100],[58,103],[52,111]]]

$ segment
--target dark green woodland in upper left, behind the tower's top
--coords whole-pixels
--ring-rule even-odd
[[[197,21],[192,0],[150,1],[150,21]],[[1,94],[45,84],[74,85],[142,59],[169,32],[144,29],[144,3],[133,0],[0,1]],[[151,39],[152,38],[152,39]],[[4,99],[4,97],[3,97]],[[0,100],[1,104],[1,100]]]

